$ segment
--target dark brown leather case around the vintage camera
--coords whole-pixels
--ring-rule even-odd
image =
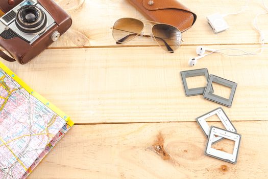
[[[51,39],[51,34],[53,32],[58,31],[62,35],[70,28],[72,24],[70,16],[53,0],[38,0],[38,3],[51,14],[56,22],[56,24],[50,30],[45,32],[32,44],[21,39],[20,37],[14,37],[12,39],[4,39],[0,37],[0,46],[9,52],[9,54],[21,64],[28,63],[30,60],[44,51],[48,46],[50,46],[54,42]],[[12,58],[8,58],[8,56],[3,52],[0,52],[0,56],[8,61],[14,61]]]

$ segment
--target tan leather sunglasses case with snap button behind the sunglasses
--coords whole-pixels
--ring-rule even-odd
[[[128,0],[144,16],[158,23],[177,27],[181,32],[189,29],[197,15],[177,0]]]

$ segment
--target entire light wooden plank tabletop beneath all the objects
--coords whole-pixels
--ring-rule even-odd
[[[144,18],[126,0],[56,2],[72,16],[71,29],[29,64],[4,62],[76,122],[29,178],[268,177],[268,50],[257,56],[213,54],[194,68],[187,64],[201,44],[258,49],[252,21],[263,11],[261,0],[225,17],[230,29],[220,34],[212,32],[206,16],[234,13],[245,1],[181,0],[198,20],[183,33],[174,54],[150,38],[115,44],[110,27],[116,19]],[[267,22],[267,15],[260,16],[266,38]],[[232,107],[222,106],[242,135],[236,165],[204,155],[206,138],[195,118],[221,105],[202,96],[186,97],[180,76],[201,68],[238,83]],[[189,81],[204,84],[204,79]],[[215,89],[226,95],[223,88]]]

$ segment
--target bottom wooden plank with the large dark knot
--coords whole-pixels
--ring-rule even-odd
[[[233,124],[235,165],[204,155],[196,122],[76,125],[29,178],[267,178],[268,122]]]

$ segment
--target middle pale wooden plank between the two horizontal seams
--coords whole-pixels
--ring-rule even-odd
[[[202,95],[185,96],[180,71],[202,68],[238,83],[232,107],[224,107],[231,120],[267,120],[267,51],[213,54],[191,68],[194,48],[181,47],[175,54],[158,47],[46,50],[27,65],[5,63],[76,123],[194,121],[221,106]],[[224,95],[224,90],[215,93]]]

